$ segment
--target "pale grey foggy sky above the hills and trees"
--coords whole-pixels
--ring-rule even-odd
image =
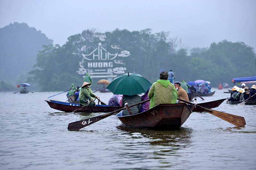
[[[255,8],[256,0],[0,0],[0,28],[27,23],[61,46],[90,28],[150,28],[170,32],[181,47],[209,47],[226,39],[256,51]]]

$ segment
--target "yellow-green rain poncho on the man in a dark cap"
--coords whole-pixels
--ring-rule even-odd
[[[149,109],[161,103],[175,103],[178,92],[170,80],[157,80],[148,92],[150,99]]]

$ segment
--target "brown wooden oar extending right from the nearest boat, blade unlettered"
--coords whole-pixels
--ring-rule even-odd
[[[180,98],[178,98],[178,100],[180,100],[182,102],[185,102],[185,103],[193,104],[193,103],[187,102],[185,100],[182,100]],[[205,107],[200,106],[198,104],[196,104],[196,106],[200,107],[204,111],[207,111],[208,113],[211,113],[214,116],[217,116],[217,117],[219,117],[219,118],[221,118],[221,119],[223,119],[223,120],[225,120],[225,121],[227,121],[231,124],[236,125],[237,127],[244,127],[244,125],[246,124],[245,120],[244,120],[244,117],[232,115],[232,114],[229,114],[229,113],[224,113],[224,112],[217,111],[217,110],[208,109],[208,108],[205,108]]]

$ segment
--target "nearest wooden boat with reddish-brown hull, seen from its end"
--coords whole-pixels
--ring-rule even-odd
[[[136,115],[122,116],[122,111],[116,116],[128,127],[171,129],[180,128],[188,119],[192,110],[185,103],[158,104],[157,106]]]

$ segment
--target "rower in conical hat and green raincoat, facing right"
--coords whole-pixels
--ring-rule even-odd
[[[98,99],[98,97],[92,93],[92,90],[89,88],[91,83],[83,83],[81,90],[79,92],[79,103],[83,106],[95,106],[95,102],[92,100],[92,97]]]

